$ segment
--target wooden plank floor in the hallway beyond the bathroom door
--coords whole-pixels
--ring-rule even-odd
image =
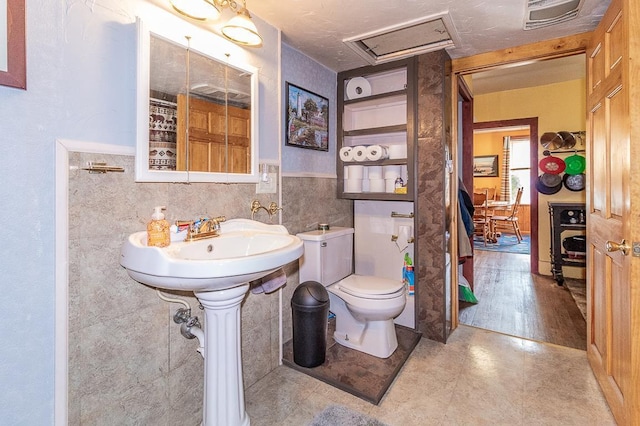
[[[529,256],[476,250],[475,305],[460,302],[460,322],[526,339],[586,349],[586,322],[571,294],[532,275]]]

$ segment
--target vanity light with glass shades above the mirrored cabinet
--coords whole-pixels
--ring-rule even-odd
[[[242,1],[242,5],[235,0],[169,1],[180,14],[199,21],[218,19],[221,11],[228,7],[236,13],[236,16],[222,27],[222,35],[243,46],[260,46],[262,44],[262,37],[260,37],[256,25],[251,20],[245,0]]]

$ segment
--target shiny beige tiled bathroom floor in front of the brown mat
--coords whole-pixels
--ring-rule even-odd
[[[253,426],[307,425],[329,404],[390,426],[615,425],[584,351],[464,325],[422,339],[378,406],[285,366],[246,402]]]

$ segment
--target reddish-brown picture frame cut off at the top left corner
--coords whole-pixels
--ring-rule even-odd
[[[7,35],[6,67],[4,65],[0,66],[0,85],[26,89],[25,0],[6,1],[6,20],[0,18],[0,32]],[[2,52],[2,50],[0,50],[0,52]],[[2,60],[0,64],[4,64],[4,62],[5,61]]]

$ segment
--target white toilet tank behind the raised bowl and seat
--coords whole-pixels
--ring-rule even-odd
[[[353,272],[353,228],[297,234],[304,243],[300,258],[300,282],[317,281],[329,286]]]

